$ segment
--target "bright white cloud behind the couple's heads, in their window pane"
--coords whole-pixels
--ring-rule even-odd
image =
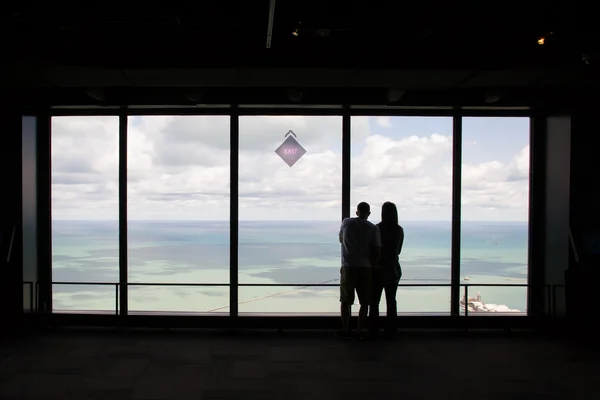
[[[433,133],[392,139],[372,135],[352,160],[352,203],[397,204],[401,219],[447,220],[451,215],[452,137]]]

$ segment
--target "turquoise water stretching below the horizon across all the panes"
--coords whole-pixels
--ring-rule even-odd
[[[402,284],[449,284],[449,222],[407,222],[400,257]],[[215,221],[129,221],[129,281],[229,283],[229,223]],[[239,226],[241,284],[297,284],[240,287],[240,312],[337,312],[339,221],[242,221]],[[527,281],[526,223],[463,223],[461,277],[469,284]],[[55,282],[118,282],[116,221],[54,221]],[[521,287],[473,287],[486,303],[526,309]],[[227,312],[228,287],[130,288],[131,311]],[[448,312],[449,287],[408,287],[398,292],[401,312]],[[114,310],[111,287],[55,285],[60,310]],[[385,308],[385,307],[384,307]]]

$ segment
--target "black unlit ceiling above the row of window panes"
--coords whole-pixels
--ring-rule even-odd
[[[122,102],[135,100],[133,89],[135,101],[153,102],[213,88],[216,102],[224,88],[451,88],[468,97],[475,88],[560,87],[564,96],[599,83],[600,35],[583,32],[573,1],[278,0],[267,48],[269,5],[22,1],[0,14],[0,86],[42,97],[61,88],[54,101],[68,103],[91,87]]]

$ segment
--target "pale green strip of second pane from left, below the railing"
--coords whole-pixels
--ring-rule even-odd
[[[130,314],[228,314],[228,286],[129,287]]]

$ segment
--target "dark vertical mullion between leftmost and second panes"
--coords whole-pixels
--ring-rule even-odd
[[[128,312],[127,259],[127,114],[119,113],[119,314]]]

